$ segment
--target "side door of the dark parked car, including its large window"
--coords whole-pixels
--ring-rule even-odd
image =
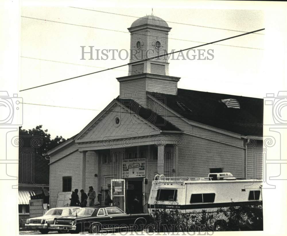
[[[131,225],[131,217],[117,207],[106,207],[109,217],[109,225],[112,227],[129,227]]]

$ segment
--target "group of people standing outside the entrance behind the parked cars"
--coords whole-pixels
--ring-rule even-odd
[[[102,199],[102,194],[98,193],[98,201],[95,203],[95,198],[96,198],[96,192],[94,191],[93,186],[89,187],[89,192],[88,194],[85,193],[84,189],[81,189],[81,202],[79,201],[79,195],[78,195],[79,189],[75,189],[72,192],[71,195],[71,202],[70,206],[81,206],[81,207],[86,207],[87,206],[87,200],[89,198],[89,206],[100,206],[100,202]],[[110,203],[112,203],[112,199],[110,198],[109,190],[105,190],[105,200],[104,200],[104,205],[105,206],[110,206]]]

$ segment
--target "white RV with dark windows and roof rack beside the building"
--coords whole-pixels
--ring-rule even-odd
[[[158,209],[180,212],[214,211],[230,205],[262,204],[262,180],[237,180],[231,173],[209,177],[164,177],[156,175],[148,200],[150,214]]]

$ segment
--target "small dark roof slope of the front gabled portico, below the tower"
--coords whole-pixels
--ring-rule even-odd
[[[117,97],[116,100],[125,107],[127,107],[130,111],[133,111],[141,118],[145,119],[146,121],[148,121],[149,123],[153,124],[154,126],[163,131],[181,131],[175,125],[173,125],[172,123],[170,123],[169,121],[167,121],[154,111],[140,106],[137,102],[135,102],[132,99],[127,98],[120,99],[119,97]]]

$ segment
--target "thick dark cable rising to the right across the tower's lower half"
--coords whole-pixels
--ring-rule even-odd
[[[228,39],[232,39],[232,38],[237,38],[237,37],[244,36],[244,35],[247,35],[247,34],[252,34],[252,33],[254,33],[254,32],[259,32],[259,31],[262,31],[262,30],[265,30],[265,28],[260,29],[260,30],[254,30],[254,31],[247,32],[247,33],[244,33],[244,34],[235,35],[235,36],[228,37],[228,38],[224,38],[224,39],[220,39],[220,40],[216,40],[216,41],[213,41],[213,42],[201,44],[201,45],[194,46],[194,47],[190,47],[190,48],[187,48],[187,49],[181,49],[181,50],[179,50],[179,51],[174,51],[174,52],[171,52],[171,53],[164,53],[164,54],[162,54],[162,55],[158,55],[158,56],[155,56],[155,57],[150,57],[150,58],[148,58],[148,59],[143,59],[143,60],[139,60],[139,61],[134,61],[134,62],[131,62],[131,63],[127,63],[127,64],[115,66],[115,67],[111,67],[111,68],[108,68],[108,69],[103,69],[103,70],[100,70],[100,71],[95,71],[95,72],[88,73],[88,74],[84,74],[84,75],[81,75],[81,76],[75,76],[75,77],[72,77],[72,78],[69,78],[69,79],[59,80],[59,81],[51,82],[51,83],[48,83],[48,84],[42,84],[42,85],[39,85],[39,86],[22,89],[22,90],[19,90],[19,92],[26,91],[26,90],[30,90],[30,89],[33,89],[33,88],[39,88],[39,87],[46,86],[46,85],[50,85],[50,84],[56,84],[56,83],[59,83],[59,82],[63,82],[63,81],[67,81],[67,80],[72,80],[72,79],[79,78],[79,77],[83,77],[83,76],[92,75],[92,74],[100,73],[100,72],[103,72],[103,71],[108,71],[108,70],[111,70],[111,69],[116,69],[116,68],[123,67],[123,66],[126,66],[126,65],[132,65],[132,64],[135,64],[135,63],[140,63],[140,62],[144,62],[144,61],[156,59],[156,58],[158,58],[158,57],[163,57],[163,56],[171,55],[171,54],[174,54],[174,53],[179,53],[179,52],[187,51],[187,50],[190,50],[190,49],[194,49],[194,48],[198,48],[198,47],[210,45],[210,44],[213,44],[213,43],[216,43],[216,42],[221,42],[221,41],[224,41],[224,40],[228,40]]]

